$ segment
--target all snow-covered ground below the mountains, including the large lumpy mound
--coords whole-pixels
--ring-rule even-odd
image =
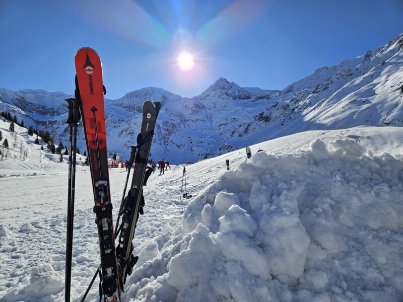
[[[152,174],[124,300],[403,300],[402,148],[400,127],[300,132],[186,166],[187,200],[183,166]],[[116,214],[125,172],[110,175]],[[0,179],[2,301],[63,301],[65,180]],[[78,173],[75,300],[99,265],[92,206]]]

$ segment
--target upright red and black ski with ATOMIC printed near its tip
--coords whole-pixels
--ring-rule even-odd
[[[109,188],[108,156],[102,63],[91,48],[80,48],[76,61],[76,98],[81,99],[81,116],[87,142],[94,192],[96,223],[101,253],[101,288],[104,301],[120,302],[120,280],[113,233],[112,202]]]

